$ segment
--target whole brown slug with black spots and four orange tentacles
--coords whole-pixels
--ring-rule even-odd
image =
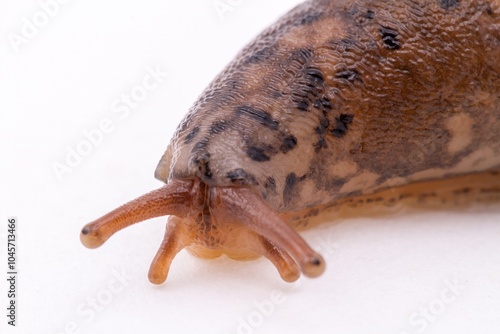
[[[165,185],[81,241],[170,215],[154,284],[184,248],[317,277],[297,229],[329,209],[500,196],[499,92],[500,0],[306,1],[195,102],[156,168]]]

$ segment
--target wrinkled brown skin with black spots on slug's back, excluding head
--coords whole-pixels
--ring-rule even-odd
[[[205,90],[156,176],[286,211],[498,167],[499,25],[498,2],[306,2]]]

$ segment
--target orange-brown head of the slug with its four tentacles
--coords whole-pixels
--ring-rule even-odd
[[[263,255],[287,282],[301,273],[317,277],[325,270],[321,255],[251,189],[210,187],[199,180],[173,180],[122,205],[85,225],[80,240],[97,248],[127,226],[166,215],[165,236],[149,270],[154,284],[165,282],[183,248],[202,257]]]

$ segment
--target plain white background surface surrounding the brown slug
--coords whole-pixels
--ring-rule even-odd
[[[182,251],[167,283],[151,285],[147,271],[165,218],[121,231],[96,250],[80,244],[85,223],[161,185],[153,171],[196,97],[299,2],[227,1],[233,10],[221,18],[211,0],[73,0],[17,51],[9,36],[22,36],[24,18],[33,22],[41,7],[0,2],[0,267],[5,274],[7,217],[17,216],[20,272],[14,329],[6,325],[1,276],[2,333],[496,332],[498,205],[307,231],[327,270],[295,284],[282,282],[266,260],[208,261]],[[111,105],[141,85],[148,67],[168,74],[120,118]],[[112,131],[58,179],[54,163],[65,164],[83,132],[103,119]]]

